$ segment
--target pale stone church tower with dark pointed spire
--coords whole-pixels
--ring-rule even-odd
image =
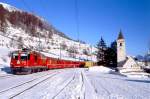
[[[122,66],[126,60],[126,45],[123,34],[120,30],[119,36],[117,39],[117,63],[118,66]]]

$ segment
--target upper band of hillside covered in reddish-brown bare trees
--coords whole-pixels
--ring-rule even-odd
[[[46,30],[48,32],[49,37],[53,34],[53,32],[63,37],[66,36],[64,33],[57,31],[52,25],[47,24],[46,21],[42,20],[40,17],[35,16],[31,13],[21,11],[8,4],[0,3],[0,13],[0,25],[2,28],[4,28],[2,29],[2,31],[5,31],[5,27],[8,26],[8,23],[6,21],[8,21],[14,27],[20,27],[27,33],[30,33],[30,35],[32,36],[37,37],[38,32],[43,30]],[[38,31],[38,29],[40,31]],[[41,36],[47,35],[42,34]],[[66,38],[68,37],[66,36]]]

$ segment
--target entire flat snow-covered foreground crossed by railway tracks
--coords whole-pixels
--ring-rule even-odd
[[[150,99],[149,78],[127,78],[104,69],[1,74],[0,99]]]

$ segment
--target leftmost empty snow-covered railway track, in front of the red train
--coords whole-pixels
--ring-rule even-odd
[[[24,87],[25,85],[28,85],[27,88],[24,88],[24,89],[22,89],[22,90],[19,90],[16,94],[10,95],[10,96],[8,95],[8,96],[9,96],[9,99],[13,99],[13,98],[17,97],[18,95],[24,93],[25,91],[27,91],[27,90],[29,90],[29,89],[35,87],[36,85],[38,85],[38,84],[40,84],[40,83],[42,83],[42,82],[44,82],[44,81],[50,79],[51,77],[57,75],[58,73],[60,73],[60,71],[59,71],[59,72],[54,71],[52,74],[45,74],[45,75],[42,75],[42,76],[40,76],[40,77],[38,77],[38,78],[34,78],[34,79],[29,80],[29,81],[27,81],[27,82],[24,82],[24,83],[21,83],[21,84],[19,84],[19,85],[13,86],[13,87],[11,87],[11,88],[2,90],[2,91],[0,91],[0,97],[1,97],[1,96],[4,96],[4,97],[5,97],[5,94],[6,94],[6,93],[11,93],[11,92],[13,92],[13,90],[16,90],[16,89],[19,90],[20,87]],[[48,77],[46,77],[46,76],[48,76]],[[42,79],[43,77],[44,77],[44,79]],[[40,80],[40,79],[42,79],[42,80]],[[38,80],[39,80],[39,81],[38,81]],[[37,83],[34,83],[34,81],[37,81]],[[34,83],[34,84],[32,84],[32,83]]]

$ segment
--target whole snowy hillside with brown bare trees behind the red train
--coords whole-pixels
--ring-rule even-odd
[[[4,25],[0,30],[0,47],[20,49],[22,47],[34,50],[43,50],[57,57],[71,57],[96,61],[96,48],[84,43],[71,40],[64,33],[57,31],[52,25],[48,25],[42,18],[21,11],[8,4],[0,3],[1,11],[10,16],[4,19]],[[22,19],[12,19],[11,16],[23,16]],[[28,23],[28,19],[31,19]],[[0,18],[1,19],[1,18]],[[2,21],[1,19],[1,21]],[[17,24],[13,22],[17,20]],[[20,20],[20,21],[19,21]],[[32,20],[37,20],[33,21]],[[3,22],[2,21],[2,22]],[[38,23],[39,22],[39,23]],[[35,26],[32,25],[36,23]],[[28,24],[31,25],[28,27]]]

